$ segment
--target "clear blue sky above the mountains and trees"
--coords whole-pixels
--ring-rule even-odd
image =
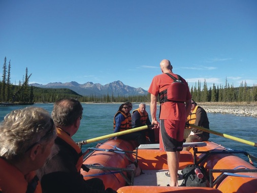
[[[189,86],[198,80],[257,84],[255,0],[0,0],[0,59],[11,82],[120,80],[147,90],[169,59]],[[2,79],[2,70],[1,70]]]

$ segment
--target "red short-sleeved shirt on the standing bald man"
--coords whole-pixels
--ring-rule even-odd
[[[176,74],[171,74],[175,78],[178,78]],[[152,83],[148,89],[148,92],[157,96],[159,92],[167,89],[169,85],[174,80],[170,78],[167,74],[160,74],[152,79]],[[188,85],[181,77],[181,81],[186,85],[186,100],[191,99],[191,93],[189,91]],[[159,115],[159,119],[170,119],[170,120],[186,120],[186,111],[185,105],[183,103],[174,103],[174,102],[166,102],[161,105],[161,111]]]

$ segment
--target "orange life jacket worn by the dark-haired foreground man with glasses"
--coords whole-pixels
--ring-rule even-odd
[[[56,131],[57,131],[57,136],[61,138],[63,141],[65,141],[66,143],[68,143],[70,146],[72,146],[73,149],[75,149],[76,152],[78,153],[79,159],[76,164],[76,168],[77,168],[77,171],[80,172],[81,166],[83,164],[83,153],[80,147],[73,141],[73,139],[66,132],[62,131],[60,128],[57,128]]]

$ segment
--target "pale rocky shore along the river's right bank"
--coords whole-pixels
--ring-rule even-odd
[[[207,113],[235,114],[257,118],[257,103],[198,103]]]

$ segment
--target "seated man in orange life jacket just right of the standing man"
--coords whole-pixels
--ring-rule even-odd
[[[191,100],[191,102],[191,113],[187,117],[187,123],[209,128],[209,120],[206,111],[198,106],[194,100]],[[194,127],[188,127],[184,130],[184,139],[186,143],[208,141],[209,137],[210,134],[208,132],[197,130],[197,128]],[[183,150],[189,151],[189,149],[191,149],[191,147],[183,147]]]

